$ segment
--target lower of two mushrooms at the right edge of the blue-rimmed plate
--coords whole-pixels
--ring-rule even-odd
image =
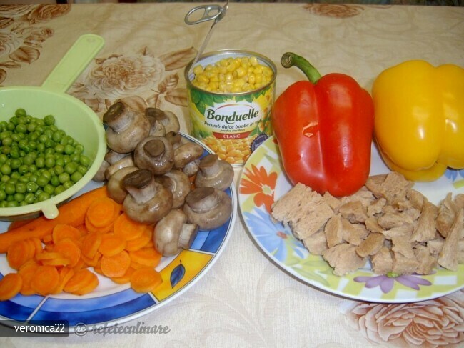
[[[183,212],[199,229],[216,229],[231,217],[232,199],[219,189],[197,187],[187,195]]]

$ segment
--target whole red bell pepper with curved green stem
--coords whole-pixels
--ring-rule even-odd
[[[357,192],[370,171],[374,116],[370,94],[345,74],[321,77],[296,54],[284,54],[281,64],[297,66],[309,79],[289,86],[271,113],[288,179],[336,197]]]

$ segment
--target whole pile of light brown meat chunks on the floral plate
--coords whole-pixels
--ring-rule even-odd
[[[296,184],[271,215],[339,276],[366,262],[375,274],[394,275],[456,271],[464,263],[464,194],[448,194],[437,207],[395,172],[369,177],[341,198]]]

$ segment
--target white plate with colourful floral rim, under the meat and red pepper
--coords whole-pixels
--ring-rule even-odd
[[[370,175],[388,173],[373,146]],[[464,192],[464,170],[448,170],[435,182],[416,183],[415,189],[435,204],[448,192]],[[243,167],[238,183],[238,204],[248,232],[259,249],[278,267],[318,289],[369,302],[417,302],[464,288],[464,264],[458,272],[438,268],[430,275],[387,277],[374,274],[368,264],[343,277],[333,274],[322,257],[309,254],[288,227],[271,220],[271,204],[291,189],[283,172],[273,137],[256,149]]]

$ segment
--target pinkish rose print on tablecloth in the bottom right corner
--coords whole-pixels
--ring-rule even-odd
[[[395,347],[462,347],[464,291],[409,304],[345,302],[348,324],[370,342]]]

